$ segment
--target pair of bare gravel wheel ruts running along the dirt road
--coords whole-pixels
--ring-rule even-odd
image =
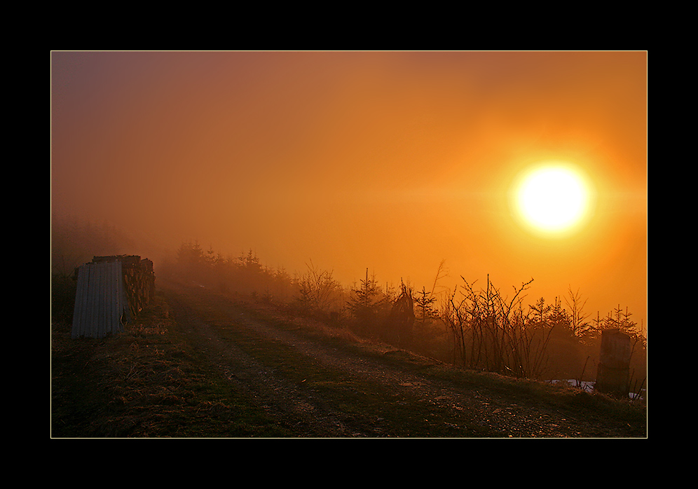
[[[323,399],[313,389],[290,381],[284,372],[260,364],[230,340],[222,338],[215,326],[200,319],[187,305],[191,291],[170,291],[175,294],[170,294],[170,303],[175,305],[177,319],[195,333],[192,337],[198,338],[197,347],[206,352],[231,383],[247,392],[292,432],[318,437],[390,436],[391,427],[375,413],[344,413],[334,401]],[[439,419],[452,420],[446,424],[452,425],[453,436],[610,436],[608,430],[612,427],[608,423],[604,426],[603,420],[596,420],[601,422],[601,426],[596,426],[559,409],[537,406],[526,399],[512,399],[500,392],[486,392],[482,387],[477,390],[456,388],[446,381],[402,371],[377,358],[360,357],[279,329],[246,314],[231,301],[213,300],[213,296],[206,298],[204,291],[196,291],[196,296],[208,307],[224,312],[231,324],[244,326],[266,341],[281,342],[298,352],[299,357],[315,361],[322,368],[338,369],[343,376],[363,385],[378,383],[390,391],[392,399],[409,399],[404,401],[406,403],[416,399],[423,406],[439,411]]]

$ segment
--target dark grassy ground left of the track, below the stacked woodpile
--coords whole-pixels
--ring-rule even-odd
[[[69,324],[52,324],[52,437],[286,434],[198,358],[163,296],[111,338],[71,340]]]

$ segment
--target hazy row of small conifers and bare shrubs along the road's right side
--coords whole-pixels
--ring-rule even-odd
[[[444,262],[431,289],[381,285],[368,269],[362,280],[345,287],[312,261],[304,272],[288,273],[264,266],[252,250],[222,256],[196,242],[182,244],[163,270],[458,366],[517,378],[591,380],[601,331],[617,328],[631,336],[631,368],[636,378],[645,378],[646,338],[631,312],[619,305],[591,318],[586,300],[571,287],[564,298],[552,303],[538,298],[530,305],[524,298],[533,280],[504,294],[490,277],[482,287],[461,277],[453,291],[444,291],[437,288]]]

